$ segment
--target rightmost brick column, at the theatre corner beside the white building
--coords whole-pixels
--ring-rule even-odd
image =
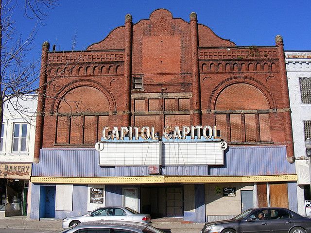
[[[283,47],[283,38],[280,35],[276,36],[276,46],[277,55],[279,62],[279,73],[281,76],[282,85],[282,100],[283,100],[283,110],[281,113],[284,118],[284,131],[285,131],[285,143],[287,150],[287,161],[289,163],[294,163],[294,141],[293,141],[293,131],[292,131],[292,118],[291,118],[291,108],[290,108],[290,98],[288,93],[288,83],[287,83],[287,73],[285,65],[285,54]]]

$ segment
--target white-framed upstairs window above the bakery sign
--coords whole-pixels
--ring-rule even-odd
[[[13,125],[13,152],[26,151],[27,123],[14,123]]]

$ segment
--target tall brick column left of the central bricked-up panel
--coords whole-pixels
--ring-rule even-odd
[[[124,111],[123,125],[131,125],[131,89],[132,89],[132,42],[133,42],[133,23],[132,16],[125,16],[124,31]]]

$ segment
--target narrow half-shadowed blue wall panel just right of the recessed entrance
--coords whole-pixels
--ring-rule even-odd
[[[194,185],[195,197],[195,220],[194,222],[205,222],[205,186],[204,184]]]

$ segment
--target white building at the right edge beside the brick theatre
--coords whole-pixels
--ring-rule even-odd
[[[285,51],[285,59],[298,175],[298,212],[306,215],[305,200],[311,200],[305,149],[306,138],[311,138],[311,51]]]

